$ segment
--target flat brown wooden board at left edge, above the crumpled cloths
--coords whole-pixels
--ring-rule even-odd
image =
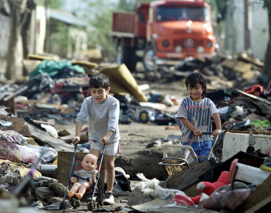
[[[12,122],[11,126],[1,126],[1,130],[14,130],[17,133],[20,133],[21,135],[25,137],[30,137],[31,133],[29,131],[28,126],[24,125],[25,119],[22,117],[10,117],[5,115],[0,115],[0,120],[9,121]]]

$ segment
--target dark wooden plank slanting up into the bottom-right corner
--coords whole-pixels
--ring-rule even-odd
[[[259,185],[242,204],[234,209],[234,212],[256,212],[266,204],[270,203],[271,199],[271,175]]]

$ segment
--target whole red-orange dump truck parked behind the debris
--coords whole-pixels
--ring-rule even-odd
[[[200,0],[141,3],[135,12],[113,12],[117,62],[134,70],[142,59],[148,71],[177,65],[186,57],[216,55],[210,6]]]

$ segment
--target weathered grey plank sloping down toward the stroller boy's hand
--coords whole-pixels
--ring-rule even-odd
[[[49,135],[45,130],[36,127],[35,125],[27,122],[30,133],[35,140],[42,144],[46,144],[52,148],[55,148],[56,151],[73,151],[74,146],[67,144],[65,141],[62,141],[59,138],[54,138]]]

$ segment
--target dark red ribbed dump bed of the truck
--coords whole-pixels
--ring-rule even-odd
[[[114,12],[112,20],[112,34],[131,34],[134,37],[138,34],[138,16],[135,12]]]

